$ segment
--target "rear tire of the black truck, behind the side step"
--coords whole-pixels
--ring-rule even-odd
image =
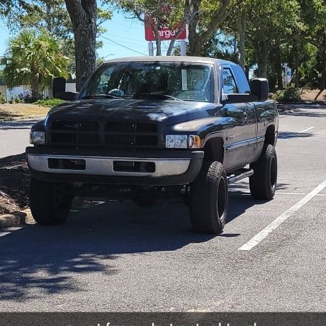
[[[255,199],[271,200],[276,191],[277,156],[272,145],[264,145],[257,162],[250,164],[254,174],[249,177],[249,188]]]

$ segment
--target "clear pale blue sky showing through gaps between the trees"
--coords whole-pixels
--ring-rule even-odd
[[[108,31],[103,34],[103,37],[100,36],[98,39],[103,41],[103,47],[98,51],[99,57],[106,57],[106,60],[110,60],[117,57],[148,55],[148,43],[145,40],[143,23],[125,17],[128,17],[125,13],[114,12],[111,21],[103,24],[103,27]],[[8,38],[8,28],[3,21],[0,21],[0,56],[4,55]],[[169,42],[166,41],[163,43],[162,52],[164,53],[164,50],[167,50]],[[130,47],[131,50],[121,45]]]

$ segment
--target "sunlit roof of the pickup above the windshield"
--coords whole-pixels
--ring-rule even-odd
[[[117,59],[108,60],[104,63],[112,62],[189,62],[189,63],[203,63],[214,64],[219,62],[220,64],[235,64],[234,62],[227,60],[220,60],[213,57],[182,57],[182,56],[168,56],[168,57],[121,57]],[[235,64],[236,65],[236,64]]]

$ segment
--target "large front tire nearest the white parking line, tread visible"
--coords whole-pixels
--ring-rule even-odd
[[[193,230],[219,234],[227,215],[227,176],[220,162],[203,162],[190,185],[190,216]]]

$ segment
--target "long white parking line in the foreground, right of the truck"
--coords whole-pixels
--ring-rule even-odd
[[[242,245],[242,247],[239,248],[239,250],[248,251],[251,250],[253,247],[257,246],[259,242],[262,242],[262,240],[269,235],[269,233],[273,232],[276,227],[279,227],[287,218],[289,218],[293,213],[296,213],[298,209],[300,209],[302,206],[304,206],[308,201],[313,199],[317,193],[322,191],[326,187],[326,180],[323,181],[320,185],[318,185],[313,191],[310,191],[307,196],[303,197],[298,203],[293,205],[291,208],[288,208],[283,214],[279,215],[278,218],[276,218],[272,223],[267,225],[264,230],[260,231],[252,237],[251,240],[249,240],[245,245]]]

